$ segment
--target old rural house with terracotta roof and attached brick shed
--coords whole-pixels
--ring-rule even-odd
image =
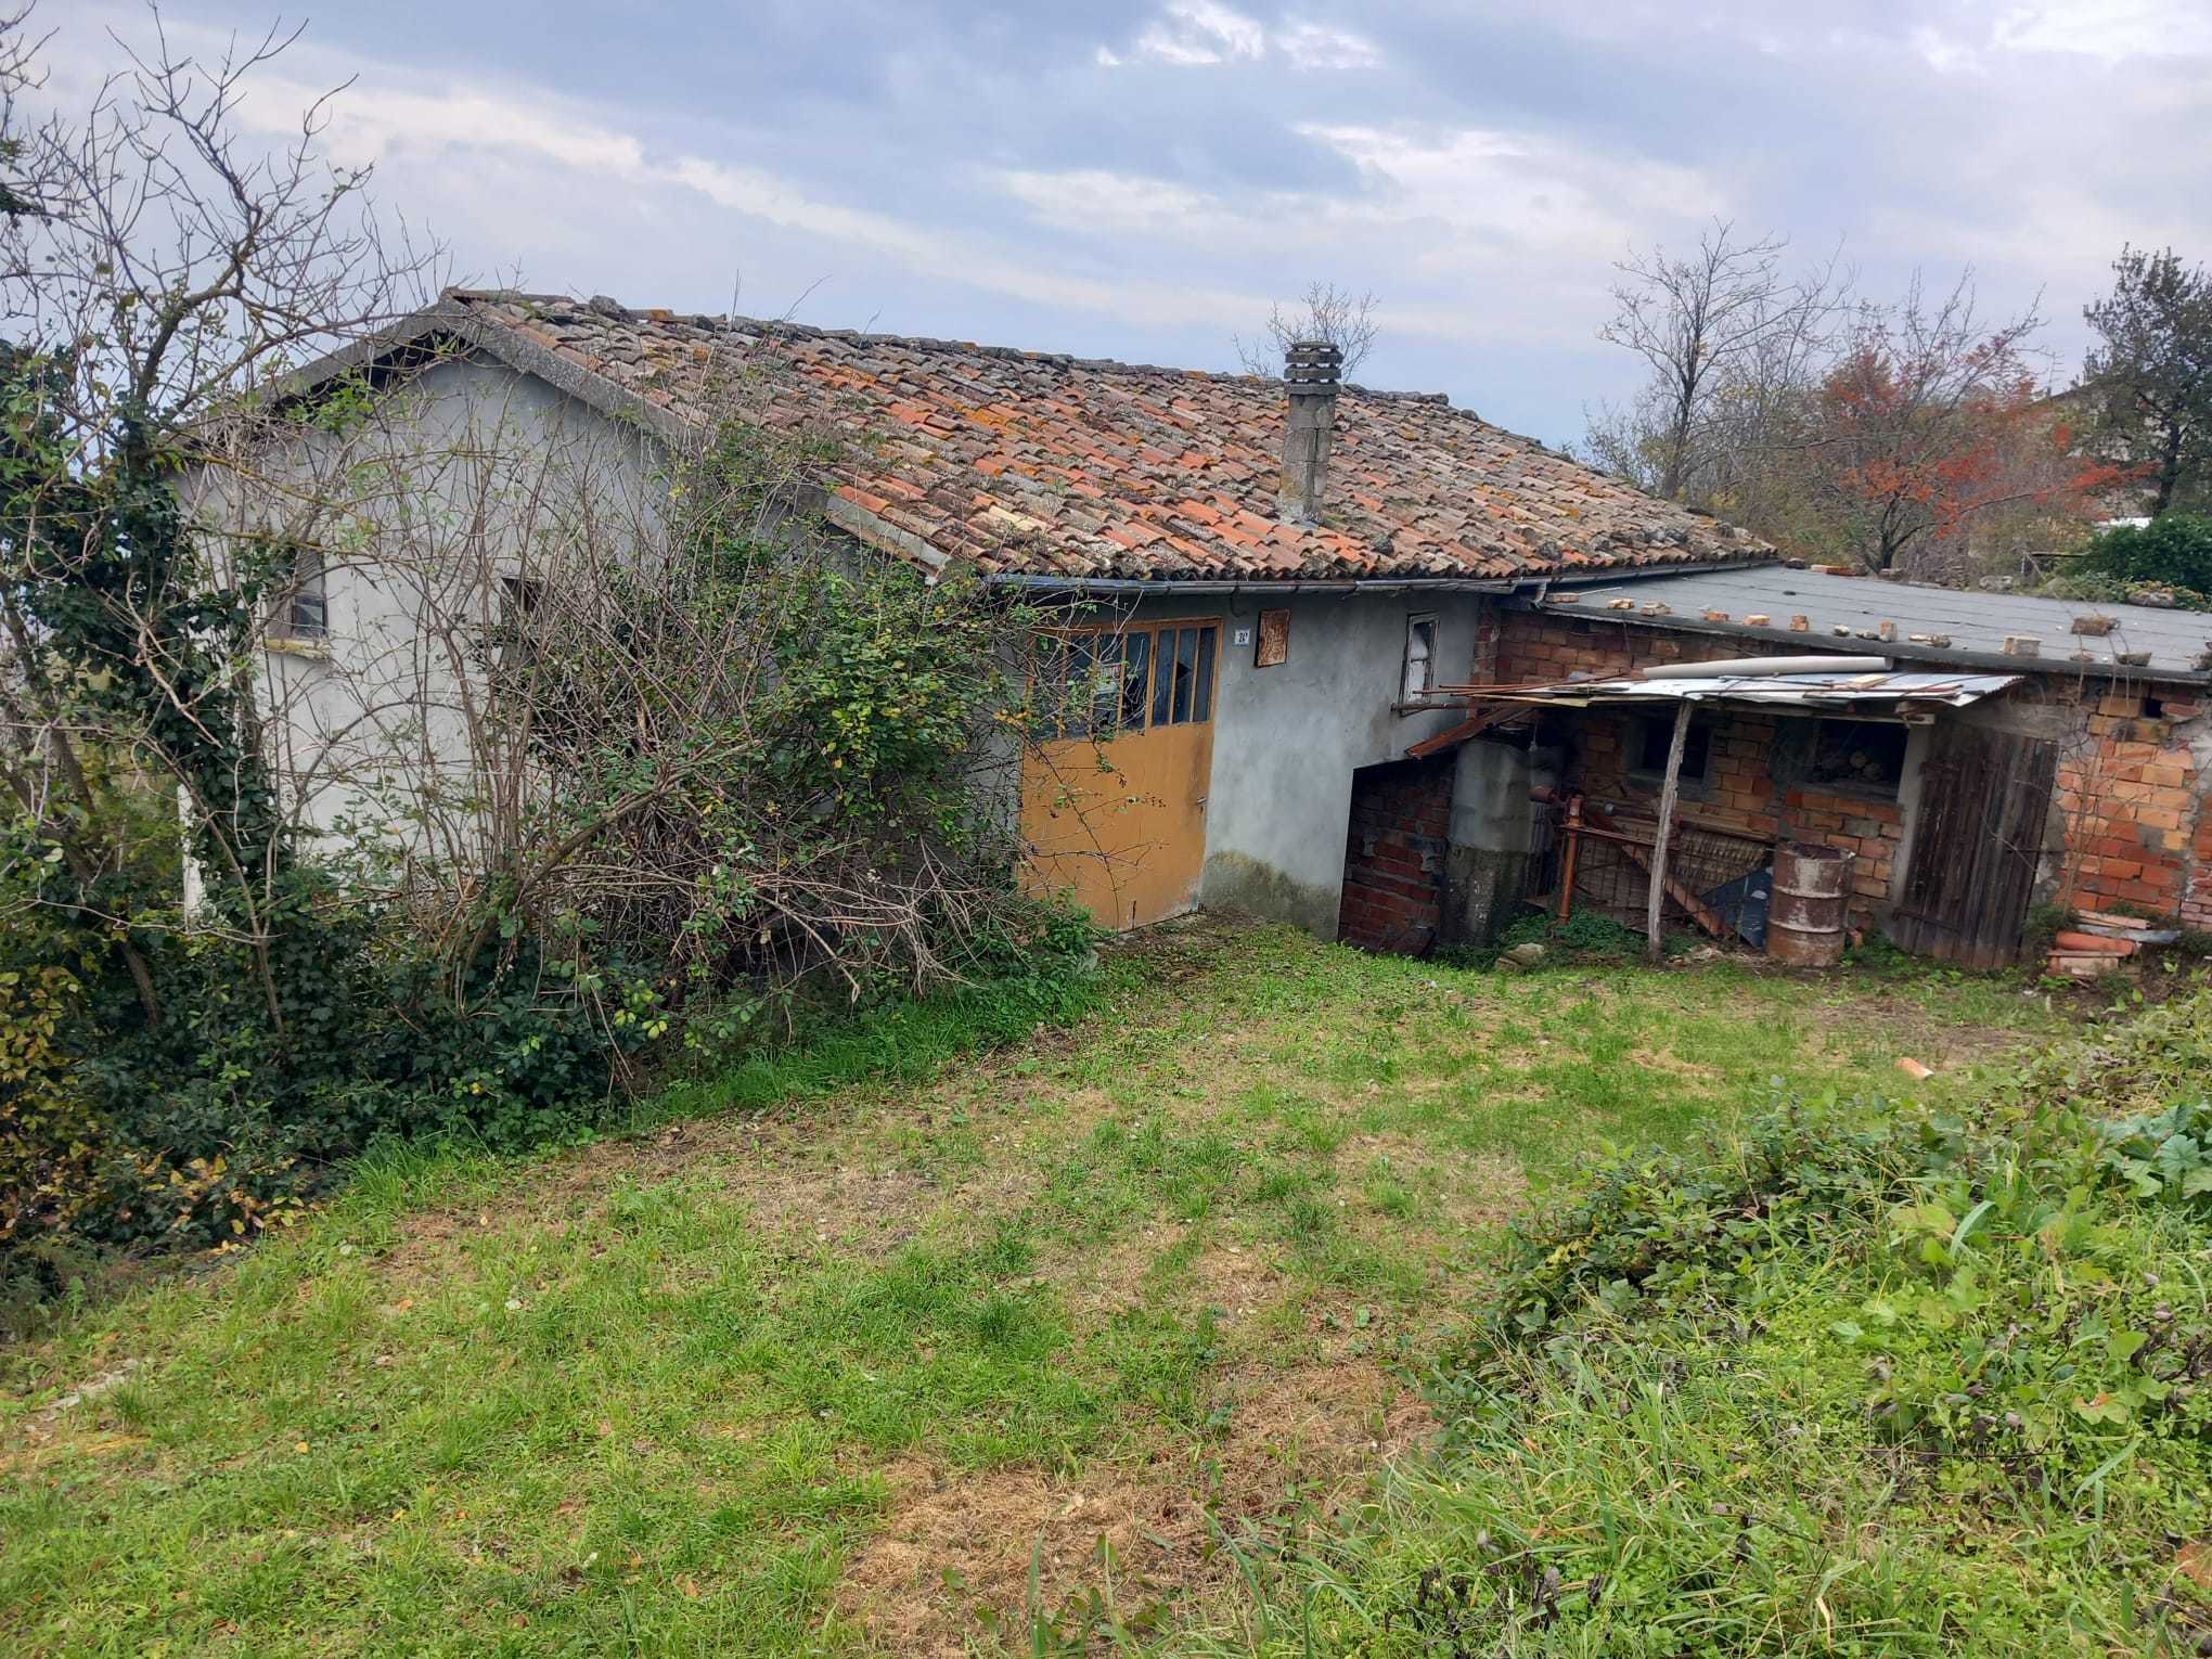
[[[1533,792],[1573,785],[1635,810],[1646,774],[1630,717],[1562,706],[1484,721],[1484,688],[1783,648],[1924,657],[1944,670],[1995,659],[2017,681],[2000,706],[2035,703],[2022,719],[2059,743],[2048,823],[2026,849],[2039,891],[2064,878],[2081,894],[2141,894],[2152,909],[2212,918],[2212,823],[2194,759],[2208,675],[2179,619],[2159,624],[2152,659],[2137,664],[2106,637],[2070,637],[2064,606],[2033,622],[2006,611],[2006,633],[2042,637],[2039,657],[2006,655],[1997,606],[2046,602],[1787,571],[1756,538],[1440,396],[1338,385],[1325,349],[1294,354],[1285,380],[1265,380],[449,292],[301,385],[358,369],[372,385],[411,385],[418,420],[458,427],[489,405],[549,449],[591,436],[586,495],[650,511],[639,480],[653,447],[706,418],[706,376],[730,363],[761,369],[745,418],[841,440],[814,480],[832,535],[920,568],[967,562],[1009,591],[1093,602],[1066,639],[1099,686],[1095,732],[1066,739],[1086,759],[1055,770],[1046,745],[1020,810],[1033,880],[1073,887],[1113,927],[1208,905],[1391,949],[1482,936],[1557,880]],[[1759,586],[1776,582],[1823,586],[1803,597]],[[1710,593],[1725,602],[1697,584],[1721,584]],[[272,633],[270,672],[294,692],[285,748],[312,792],[334,745],[356,750],[349,770],[374,765],[383,739],[363,737],[378,730],[363,712],[374,664],[409,650],[427,619],[394,604],[374,549],[303,571],[299,586]],[[1922,617],[1958,604],[1975,615],[1944,613],[1940,628]],[[1792,628],[1796,611],[1803,628]],[[2137,626],[2150,624],[2128,617],[2110,644],[2132,646]],[[1916,657],[1907,635],[1938,630],[1951,644]],[[2075,644],[2095,648],[2077,659]],[[1916,860],[1971,856],[1949,841],[1931,852],[1920,834],[1931,823],[1922,783],[1947,750],[1905,712],[1854,710],[1882,734],[1840,759],[1825,739],[1792,737],[1781,770],[1770,763],[1778,728],[1714,723],[1694,805],[1747,836],[1849,838],[1860,894],[1887,914]],[[1823,712],[1807,706],[1805,719]],[[1608,726],[1619,730],[1601,737]],[[2108,750],[2110,783],[2088,781],[2059,726]],[[436,737],[409,741],[438,750]],[[1838,765],[1856,774],[1827,776]],[[1086,781],[1071,790],[1068,776]],[[2062,825],[2070,799],[2088,805]],[[316,816],[341,814],[334,790]],[[2057,872],[2051,849],[2079,856]],[[2017,916],[2002,925],[2017,931]]]

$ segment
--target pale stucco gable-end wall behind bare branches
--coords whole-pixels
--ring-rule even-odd
[[[272,626],[257,664],[299,821],[469,858],[484,807],[520,787],[482,726],[502,580],[557,577],[586,544],[646,544],[661,469],[644,431],[449,358],[354,425],[303,427],[250,480],[204,480],[195,509],[219,549],[241,533],[323,549],[327,635]]]

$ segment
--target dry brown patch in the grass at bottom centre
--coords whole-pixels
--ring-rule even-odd
[[[854,1553],[841,1608],[885,1652],[953,1659],[987,1617],[1026,1646],[1033,1564],[1046,1613],[1086,1586],[1104,1588],[1108,1562],[1124,1613],[1221,1588],[1237,1571],[1221,1533],[1281,1531],[1325,1513],[1436,1427],[1427,1405],[1371,1360],[1245,1376],[1230,1398],[1214,1440],[1068,1475],[896,1464],[883,1531]]]

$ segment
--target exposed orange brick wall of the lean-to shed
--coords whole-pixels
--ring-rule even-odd
[[[1880,653],[1880,646],[1860,648]],[[1820,650],[1820,641],[1807,639],[1801,648],[1511,611],[1498,633],[1498,679],[1566,679],[1577,670],[1624,675],[1659,661],[1798,650]],[[2064,845],[2051,858],[2059,902],[2077,909],[2130,905],[2154,916],[2179,916],[2188,927],[2212,927],[2212,803],[2205,799],[2212,774],[2197,759],[2199,748],[2212,752],[2212,741],[2205,739],[2212,699],[2199,688],[2059,677],[2042,677],[2031,690],[2044,706],[2062,706],[2066,719],[2059,723],[2073,728],[2059,741],[2055,805]],[[2154,701],[2146,701],[2146,695]],[[1657,805],[1657,790],[1628,776],[1632,719],[1593,710],[1582,719],[1577,737],[1577,787]],[[1747,834],[1787,834],[1849,847],[1858,854],[1858,896],[1889,898],[1902,843],[1898,803],[1778,785],[1765,770],[1772,743],[1772,717],[1721,717],[1714,726],[1710,799],[1688,801],[1683,810],[1739,825]]]

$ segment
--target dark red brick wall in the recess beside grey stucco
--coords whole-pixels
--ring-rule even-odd
[[[1427,951],[1444,918],[1449,832],[1449,754],[1354,772],[1336,936],[1369,951]]]

